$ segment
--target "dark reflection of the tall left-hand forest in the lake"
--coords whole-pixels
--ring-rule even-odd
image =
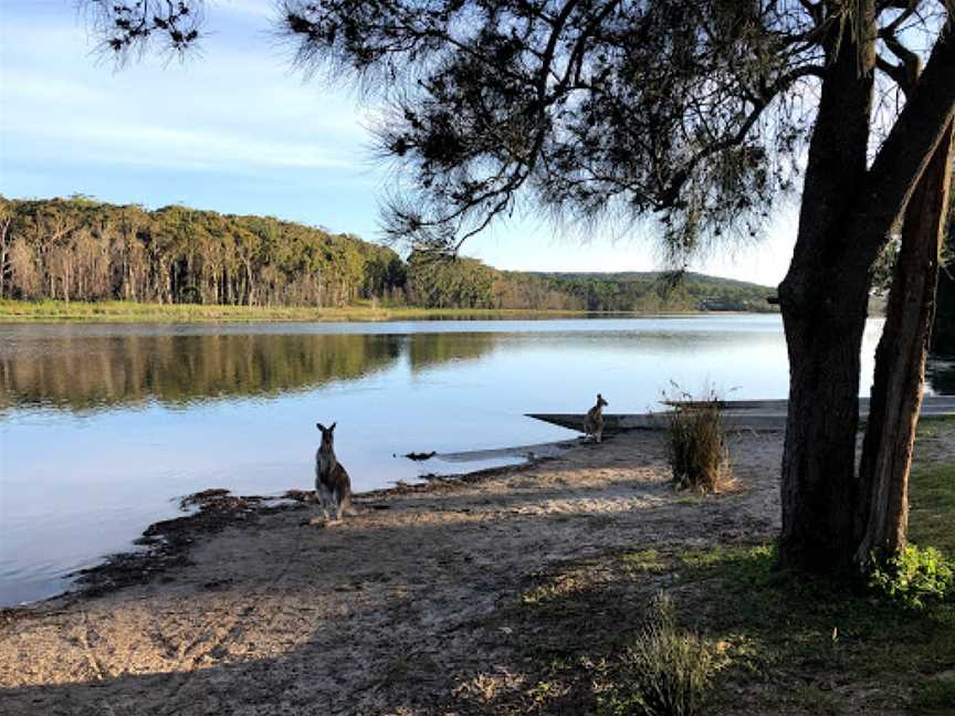
[[[399,336],[141,335],[21,340],[0,351],[0,408],[181,407],[354,380],[401,355]]]

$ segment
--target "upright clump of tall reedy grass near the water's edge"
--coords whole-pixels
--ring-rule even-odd
[[[667,449],[673,482],[680,489],[717,492],[730,477],[730,451],[723,431],[723,402],[714,390],[703,399],[682,393],[664,396],[673,409],[667,415]]]

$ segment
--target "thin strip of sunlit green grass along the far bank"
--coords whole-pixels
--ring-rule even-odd
[[[104,322],[104,323],[252,323],[397,320],[427,318],[520,318],[581,316],[573,310],[512,310],[484,308],[419,308],[372,306],[363,302],[342,308],[307,306],[219,306],[200,304],[143,304],[125,301],[96,303],[63,301],[0,301],[0,323]]]

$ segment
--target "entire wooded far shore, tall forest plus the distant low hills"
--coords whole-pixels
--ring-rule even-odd
[[[0,298],[340,307],[772,310],[773,288],[688,273],[499,271],[351,234],[170,206],[0,197]]]

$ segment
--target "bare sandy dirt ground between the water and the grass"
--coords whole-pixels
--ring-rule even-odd
[[[493,615],[548,564],[772,535],[781,433],[741,434],[732,455],[736,488],[702,499],[669,487],[660,433],[633,432],[359,498],[334,528],[306,504],[244,504],[137,562],[146,583],[8,614],[0,713],[473,712],[482,684],[521,682]]]

